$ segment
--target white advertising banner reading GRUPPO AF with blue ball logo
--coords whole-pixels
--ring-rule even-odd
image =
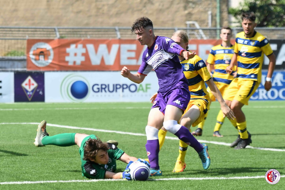
[[[141,84],[119,71],[45,72],[45,102],[147,102],[158,91],[150,72]]]

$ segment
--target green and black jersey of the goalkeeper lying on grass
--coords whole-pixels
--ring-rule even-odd
[[[83,160],[84,146],[89,138],[97,139],[95,135],[89,135],[82,140],[81,146],[79,148],[82,176],[94,179],[104,179],[106,171],[114,172],[116,170],[116,160],[118,160],[123,155],[124,151],[117,148],[111,143],[107,143],[109,146],[109,150],[107,150],[109,155],[109,162],[107,164],[96,164],[90,160]]]

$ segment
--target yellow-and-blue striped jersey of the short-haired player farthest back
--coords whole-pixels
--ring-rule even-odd
[[[208,56],[207,62],[214,64],[215,72],[213,73],[213,81],[219,83],[230,84],[234,79],[233,72],[228,74],[226,72],[227,66],[231,63],[233,57],[234,46],[225,48],[221,44],[214,46]]]

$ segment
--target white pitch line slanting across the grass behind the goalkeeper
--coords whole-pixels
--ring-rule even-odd
[[[24,123],[0,123],[0,125],[6,125],[6,124],[32,124],[32,125],[38,125],[37,122],[24,122]],[[99,132],[107,132],[107,133],[117,133],[117,134],[128,134],[128,135],[135,135],[135,136],[146,136],[146,134],[142,133],[132,133],[132,132],[123,132],[123,131],[115,131],[115,130],[105,130],[105,129],[94,129],[94,128],[86,128],[86,127],[75,127],[75,126],[68,126],[68,125],[58,125],[58,124],[50,124],[47,123],[47,126],[52,127],[60,127],[60,128],[69,128],[69,129],[81,129],[81,130],[90,130],[90,131],[99,131]],[[170,137],[166,136],[166,139],[170,140],[179,140],[177,137]],[[207,140],[198,140],[201,143],[210,143],[210,144],[217,144],[217,145],[224,145],[224,146],[230,146],[230,143],[225,142],[217,142],[217,141],[207,141]],[[277,149],[277,148],[261,148],[261,147],[253,147],[253,146],[247,146],[246,148],[252,148],[257,150],[268,150],[268,151],[275,151],[275,152],[285,152],[285,149]]]

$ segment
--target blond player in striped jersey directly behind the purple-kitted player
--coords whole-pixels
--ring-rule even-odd
[[[182,48],[188,49],[188,36],[182,31],[178,30],[172,35],[172,40],[179,44]],[[223,113],[230,112],[229,107],[226,105],[220,91],[217,89],[216,85],[211,78],[209,71],[207,70],[205,62],[197,55],[190,60],[185,60],[183,57],[179,57],[180,63],[183,68],[183,73],[188,80],[188,88],[191,94],[191,99],[188,103],[187,108],[184,111],[180,119],[180,124],[187,127],[190,130],[191,126],[196,126],[199,124],[205,117],[205,114],[209,110],[209,93],[206,90],[205,83],[211,89],[213,95],[217,98],[221,105],[221,110]],[[152,96],[152,102],[155,102],[157,99],[156,95]],[[227,116],[234,118],[234,115]],[[162,127],[158,132],[159,146],[162,147],[167,130]],[[185,167],[185,155],[188,144],[180,140],[179,142],[179,156],[177,158],[173,172],[182,172]],[[204,169],[209,167],[210,163]]]

